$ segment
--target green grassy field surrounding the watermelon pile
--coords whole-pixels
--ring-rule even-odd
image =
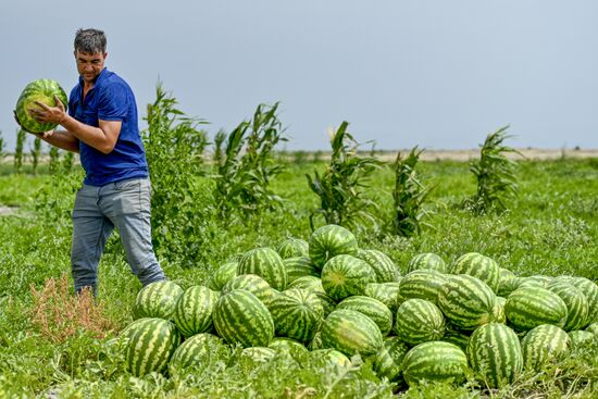
[[[292,157],[279,162],[283,171],[272,188],[282,204],[244,222],[226,223],[205,211],[214,207],[209,174],[185,176],[197,194],[186,209],[212,216],[204,221],[201,242],[188,248],[195,261],[182,261],[185,249],[158,251],[171,280],[183,288],[204,284],[220,265],[247,250],[276,247],[287,237],[309,238],[309,214],[319,202],[306,174],[322,171],[325,162]],[[385,252],[402,274],[421,252],[435,252],[450,263],[475,251],[520,276],[575,275],[598,282],[598,159],[520,161],[516,199],[503,213],[482,215],[463,207],[476,189],[466,162],[422,161],[418,172],[434,187],[426,220],[433,227],[411,238],[371,226],[354,228],[360,248]],[[525,372],[500,390],[489,390],[472,376],[458,386],[408,389],[378,378],[367,359],[337,366],[281,356],[256,364],[239,357],[238,348],[213,352],[209,362],[187,373],[135,377],[124,370],[113,338],[132,322],[141,287],[116,235],[100,264],[96,306],[88,301],[86,307],[71,294],[70,210],[80,179],[76,167],[62,175],[45,169],[36,176],[8,169],[1,173],[0,205],[9,210],[0,215],[0,398],[598,397],[598,345],[573,350],[539,373]],[[391,207],[393,179],[393,171],[384,166],[365,190],[378,203],[381,219]],[[164,226],[154,237],[169,237],[175,229]]]

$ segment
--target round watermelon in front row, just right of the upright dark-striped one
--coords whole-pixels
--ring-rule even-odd
[[[539,371],[548,361],[566,356],[570,347],[571,339],[562,328],[551,324],[539,325],[521,341],[524,367]]]

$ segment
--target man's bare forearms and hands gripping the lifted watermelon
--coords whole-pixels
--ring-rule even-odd
[[[100,120],[99,127],[95,127],[86,125],[68,115],[64,105],[58,98],[58,107],[48,107],[38,101],[36,101],[36,104],[38,104],[40,109],[30,109],[29,112],[37,121],[58,123],[66,129],[66,132],[57,130],[54,134],[45,137],[45,140],[50,145],[70,151],[73,151],[73,145],[76,145],[78,151],[78,140],[82,140],[86,145],[103,153],[110,153],[114,149],[119,135],[121,134],[121,121]],[[57,135],[57,138],[52,138],[54,135]],[[55,144],[52,142],[53,140],[55,140]],[[67,148],[61,147],[61,144],[65,145]]]

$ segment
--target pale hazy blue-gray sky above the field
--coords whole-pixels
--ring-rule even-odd
[[[595,0],[0,1],[0,130],[25,85],[77,82],[73,39],[103,29],[140,125],[159,80],[209,137],[279,101],[287,150],[598,148]]]

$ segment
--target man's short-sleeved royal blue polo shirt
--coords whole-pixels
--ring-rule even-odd
[[[71,116],[95,127],[99,127],[99,120],[122,122],[116,145],[108,154],[79,140],[80,163],[86,174],[84,183],[103,186],[127,178],[148,177],[146,151],[137,122],[137,103],[130,87],[105,67],[84,100],[83,84],[79,76],[79,83],[71,90]]]

